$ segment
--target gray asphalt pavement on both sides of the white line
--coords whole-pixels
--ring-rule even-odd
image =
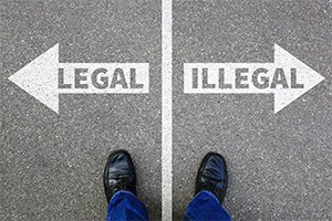
[[[0,220],[105,220],[107,156],[127,149],[162,218],[162,2],[1,7]],[[331,220],[332,1],[173,3],[173,219],[208,151],[230,175],[234,220]],[[149,63],[148,94],[63,94],[59,115],[8,80],[59,43],[62,63]],[[273,62],[277,43],[325,77],[279,113],[272,94],[184,94],[184,63]]]

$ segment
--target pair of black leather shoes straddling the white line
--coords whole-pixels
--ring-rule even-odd
[[[198,169],[195,194],[201,190],[211,191],[221,204],[226,196],[227,182],[224,157],[217,152],[208,152]],[[135,167],[126,150],[117,150],[110,155],[104,171],[104,187],[107,202],[118,190],[127,190],[136,194]]]

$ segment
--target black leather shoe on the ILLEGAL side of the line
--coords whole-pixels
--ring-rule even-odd
[[[222,204],[227,183],[228,175],[224,157],[217,152],[208,152],[198,169],[195,194],[201,190],[211,191]]]

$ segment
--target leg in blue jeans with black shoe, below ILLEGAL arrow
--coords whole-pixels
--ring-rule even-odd
[[[229,221],[230,215],[221,207],[228,186],[224,157],[208,152],[201,160],[196,178],[195,198],[189,203],[185,220]]]

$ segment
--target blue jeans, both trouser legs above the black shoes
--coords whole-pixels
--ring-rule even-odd
[[[146,207],[132,192],[116,192],[108,204],[106,221],[148,220]],[[189,203],[186,221],[229,221],[229,214],[212,192],[201,191]]]

